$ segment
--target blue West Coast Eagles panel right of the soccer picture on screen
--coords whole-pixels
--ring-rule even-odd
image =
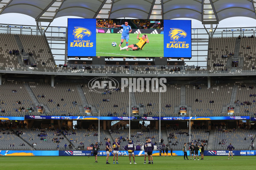
[[[191,20],[164,20],[164,57],[191,58]]]

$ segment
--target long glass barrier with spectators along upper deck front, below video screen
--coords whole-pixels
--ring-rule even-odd
[[[113,67],[113,68],[112,68]],[[123,69],[121,69],[123,67]],[[116,69],[117,68],[117,69]],[[120,68],[120,69],[118,69]],[[86,67],[77,66],[76,69],[72,65],[67,67],[54,67],[54,68],[37,68],[37,67],[21,67],[21,68],[0,68],[0,71],[30,71],[30,72],[49,72],[49,73],[81,73],[81,74],[244,74],[244,73],[256,73],[253,70],[242,70],[242,69],[227,69],[224,71],[211,71],[194,68],[195,70],[188,70],[193,66],[168,66],[162,69],[161,66],[151,66],[149,70],[146,70],[145,65],[130,66],[125,68],[122,66],[103,66],[103,65],[87,65]],[[152,69],[153,68],[153,69]],[[176,69],[175,69],[176,68]],[[177,69],[180,68],[180,69]]]

